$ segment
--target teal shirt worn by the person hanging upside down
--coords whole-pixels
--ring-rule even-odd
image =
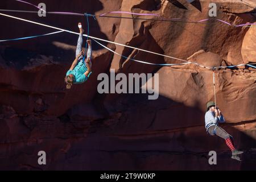
[[[84,61],[80,61],[79,64],[76,65],[76,67],[73,70],[69,70],[66,74],[66,76],[72,74],[75,76],[75,80],[73,81],[73,84],[82,84],[86,80],[88,80],[88,77],[90,76],[90,72],[88,77],[84,75],[84,73],[87,71]]]

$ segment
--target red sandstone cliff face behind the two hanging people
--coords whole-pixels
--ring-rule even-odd
[[[164,0],[44,1],[48,11],[121,10],[157,13],[163,18],[208,18],[209,1],[179,2],[185,8]],[[254,1],[210,2],[218,5],[218,19],[231,24],[256,22]],[[1,1],[0,9],[35,10],[14,1]],[[72,31],[77,31],[77,22],[85,26],[83,17],[6,14]],[[0,22],[5,25],[1,40],[55,31],[3,16]],[[256,63],[255,30],[217,21],[90,19],[92,36],[209,66]],[[245,151],[243,161],[237,162],[230,159],[222,139],[205,133],[205,104],[214,99],[212,71],[195,65],[135,63],[93,42],[92,76],[67,91],[64,75],[75,58],[76,42],[76,35],[64,32],[0,44],[0,169],[255,169],[255,69],[221,69],[216,74],[217,103],[227,121],[223,127]],[[180,63],[121,46],[108,47],[150,63]],[[98,94],[97,76],[110,69],[159,73],[158,100],[147,100],[146,94]],[[37,163],[40,150],[47,153],[46,166]],[[210,150],[218,153],[217,166],[208,164]]]

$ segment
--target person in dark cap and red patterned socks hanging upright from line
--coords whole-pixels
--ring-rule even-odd
[[[217,135],[218,137],[225,139],[227,146],[232,151],[232,158],[236,158],[236,155],[242,154],[243,152],[236,150],[232,136],[218,126],[219,122],[225,122],[224,116],[218,107],[215,108],[215,103],[209,101],[207,103],[207,112],[205,113],[205,129],[211,136]]]

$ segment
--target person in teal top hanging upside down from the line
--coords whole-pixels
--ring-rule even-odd
[[[88,80],[91,68],[92,68],[92,44],[90,40],[87,40],[88,43],[88,51],[86,60],[83,61],[84,51],[82,51],[82,33],[84,30],[82,29],[82,24],[78,25],[80,30],[79,39],[77,41],[76,47],[76,59],[73,61],[69,71],[65,76],[65,83],[67,84],[66,88],[71,89],[72,84],[82,84],[86,80]],[[78,63],[78,64],[77,64]]]

